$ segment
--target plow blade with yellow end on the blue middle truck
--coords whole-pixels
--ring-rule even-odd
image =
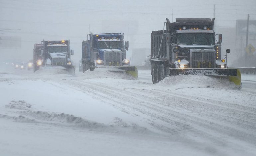
[[[133,78],[138,78],[138,70],[134,66],[102,66],[90,67],[90,71],[113,71],[113,72],[126,72],[127,75]]]

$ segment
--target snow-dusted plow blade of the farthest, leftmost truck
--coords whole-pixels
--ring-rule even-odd
[[[50,71],[54,74],[75,74],[75,67],[72,65],[40,66],[38,71]],[[38,72],[37,71],[37,72]]]

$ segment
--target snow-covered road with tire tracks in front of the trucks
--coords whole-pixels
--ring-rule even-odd
[[[0,155],[256,155],[256,76],[0,72]]]

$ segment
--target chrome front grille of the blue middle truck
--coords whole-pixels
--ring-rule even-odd
[[[112,52],[112,51],[107,51],[107,52],[105,52],[104,53],[104,60],[105,60],[105,65],[106,66],[120,66],[120,65],[122,65],[122,63],[121,63],[121,60],[122,60],[122,58],[121,58],[121,52],[119,52],[119,51],[114,51],[114,52]]]

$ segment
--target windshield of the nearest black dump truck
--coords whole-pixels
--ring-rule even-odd
[[[184,45],[214,45],[213,33],[179,33],[177,44]]]

